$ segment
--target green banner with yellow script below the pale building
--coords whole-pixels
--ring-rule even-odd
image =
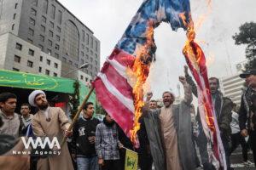
[[[73,82],[73,80],[68,78],[0,70],[0,86],[4,87],[40,89],[73,94]]]

